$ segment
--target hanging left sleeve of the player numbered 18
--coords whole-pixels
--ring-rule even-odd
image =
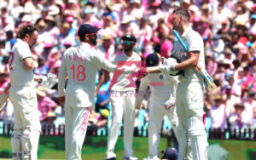
[[[59,73],[59,79],[58,79],[58,92],[59,96],[65,95],[65,83],[66,83],[66,76],[67,76],[67,66],[65,61],[65,53],[61,60],[61,71]]]

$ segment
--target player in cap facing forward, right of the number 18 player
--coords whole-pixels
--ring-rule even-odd
[[[111,60],[113,64],[119,62],[136,63],[141,62],[141,58],[138,54],[132,51],[137,42],[136,37],[130,34],[126,34],[122,37],[123,52],[115,54]],[[140,67],[140,66],[138,66]],[[108,77],[109,72],[105,71],[102,77]],[[100,82],[96,89],[100,89],[104,78],[100,78]],[[134,82],[135,79],[132,79]],[[113,80],[112,80],[113,82]],[[116,159],[114,154],[114,146],[119,136],[120,123],[124,116],[124,146],[125,154],[124,160],[137,160],[137,157],[133,157],[132,140],[135,120],[135,100],[136,100],[136,85],[129,86],[131,79],[127,75],[120,75],[116,83],[113,84],[110,91],[111,107],[112,107],[112,125],[108,132],[108,149],[105,159]],[[110,86],[111,86],[110,84]]]

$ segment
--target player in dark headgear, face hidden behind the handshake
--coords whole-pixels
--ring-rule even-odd
[[[158,66],[159,56],[157,54],[148,54],[146,66]],[[160,142],[160,131],[163,117],[169,117],[172,129],[177,135],[177,114],[175,106],[175,96],[177,88],[177,76],[165,75],[163,73],[148,73],[141,80],[140,88],[137,94],[136,107],[140,109],[143,96],[150,86],[151,100],[149,103],[149,126],[148,126],[148,149],[149,156],[144,160],[158,160],[158,146]]]

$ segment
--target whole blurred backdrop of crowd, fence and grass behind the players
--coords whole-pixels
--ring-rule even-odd
[[[58,76],[61,56],[79,43],[78,27],[84,23],[100,27],[98,53],[110,60],[122,50],[120,37],[137,37],[134,51],[145,60],[148,54],[169,57],[177,39],[172,35],[172,11],[183,7],[191,15],[190,26],[205,44],[207,71],[218,89],[205,94],[205,125],[209,151],[228,154],[229,159],[256,159],[256,3],[249,0],[0,0],[0,93],[9,83],[9,54],[22,26],[38,27],[38,42],[32,57],[37,75]],[[102,71],[99,68],[98,77]],[[83,148],[84,159],[103,159],[111,124],[109,84],[105,81],[96,96]],[[139,81],[138,83],[139,84]],[[65,108],[55,89],[34,84],[41,112],[42,136],[39,158],[64,159]],[[148,102],[150,90],[137,111],[135,156],[148,155]],[[8,101],[0,111],[0,157],[11,157],[10,134],[14,122]],[[122,135],[122,130],[119,133]],[[160,150],[175,146],[172,127],[165,117]],[[117,155],[122,156],[122,138]],[[92,155],[92,156],[91,156]],[[119,156],[119,157],[120,157]],[[216,158],[213,158],[216,159]]]

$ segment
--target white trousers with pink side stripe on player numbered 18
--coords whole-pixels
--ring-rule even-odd
[[[67,160],[81,160],[90,107],[65,107],[65,153]]]

